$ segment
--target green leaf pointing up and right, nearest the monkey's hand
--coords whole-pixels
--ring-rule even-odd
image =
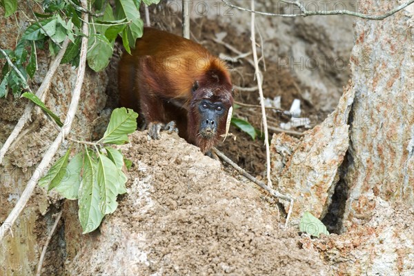
[[[116,108],[112,111],[108,128],[99,141],[116,145],[128,143],[128,134],[137,130],[137,117],[137,112],[132,109]]]

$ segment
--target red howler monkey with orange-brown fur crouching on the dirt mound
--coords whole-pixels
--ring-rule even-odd
[[[223,61],[198,43],[153,28],[144,28],[132,55],[119,62],[121,106],[145,118],[152,139],[161,128],[178,128],[202,152],[227,135],[232,88]]]

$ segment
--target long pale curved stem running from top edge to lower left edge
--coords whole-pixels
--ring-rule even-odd
[[[88,0],[81,0],[81,5],[83,6],[83,8],[87,7],[87,2]],[[14,221],[16,221],[17,217],[19,217],[21,211],[28,203],[30,196],[33,193],[34,187],[36,186],[39,179],[43,176],[43,172],[46,171],[46,168],[49,166],[50,161],[52,161],[52,158],[55,156],[55,153],[59,149],[59,146],[61,145],[63,139],[65,139],[65,137],[70,132],[72,121],[75,118],[75,113],[76,113],[77,106],[79,103],[79,98],[81,95],[81,88],[82,88],[82,83],[83,83],[83,77],[85,75],[85,67],[86,67],[86,51],[88,48],[88,14],[86,12],[83,12],[82,20],[83,20],[82,32],[84,36],[82,37],[82,43],[81,43],[79,68],[77,70],[77,80],[75,83],[75,88],[73,89],[72,99],[70,101],[70,106],[68,110],[68,115],[66,116],[65,124],[61,128],[61,132],[59,132],[59,135],[56,137],[55,141],[53,141],[53,143],[50,145],[50,148],[48,149],[46,154],[43,156],[43,159],[41,159],[39,166],[37,166],[34,174],[28,181],[28,184],[26,188],[23,190],[23,193],[21,194],[19,201],[17,201],[16,206],[14,206],[12,212],[10,213],[10,215],[8,215],[6,221],[4,221],[4,223],[1,225],[0,242],[3,240],[3,237],[6,236],[6,233],[8,232],[8,230],[12,228]]]

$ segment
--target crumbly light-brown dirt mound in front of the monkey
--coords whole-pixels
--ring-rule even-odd
[[[66,273],[328,275],[319,255],[302,249],[295,230],[281,229],[259,190],[228,175],[218,161],[177,135],[152,141],[135,132],[131,141],[121,147],[134,163],[128,195],[100,233],[81,242],[66,239]],[[70,220],[66,214],[67,235],[80,229]]]

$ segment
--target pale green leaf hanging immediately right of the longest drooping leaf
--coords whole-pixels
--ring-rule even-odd
[[[98,184],[100,188],[99,196],[101,197],[101,204],[99,208],[102,214],[113,213],[118,206],[118,181],[119,174],[117,166],[110,161],[106,155],[99,153],[98,159]]]

